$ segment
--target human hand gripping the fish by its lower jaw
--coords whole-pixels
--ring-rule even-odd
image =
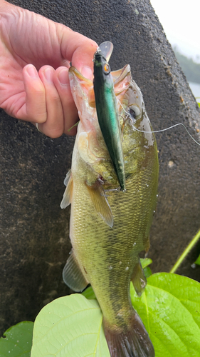
[[[75,135],[78,112],[70,92],[70,62],[93,78],[97,44],[31,11],[0,0],[0,107],[38,123],[56,138]]]

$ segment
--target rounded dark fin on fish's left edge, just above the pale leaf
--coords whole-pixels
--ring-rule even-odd
[[[63,268],[63,281],[69,288],[76,292],[83,291],[89,283],[83,275],[83,271],[80,268],[77,258],[75,258],[73,249]]]

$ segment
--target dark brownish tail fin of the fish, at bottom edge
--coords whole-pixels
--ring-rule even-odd
[[[132,326],[123,332],[104,323],[105,338],[111,357],[154,357],[154,347],[140,317],[135,313]]]

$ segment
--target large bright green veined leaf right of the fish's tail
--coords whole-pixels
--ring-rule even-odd
[[[200,284],[190,278],[157,273],[147,279],[132,304],[152,340],[156,357],[200,357]]]

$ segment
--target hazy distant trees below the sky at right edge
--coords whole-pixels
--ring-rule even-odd
[[[177,47],[174,47],[174,52],[177,56],[177,60],[179,61],[181,69],[186,75],[186,79],[188,81],[200,84],[200,64],[197,64],[193,61],[193,59],[189,59],[183,54],[180,54],[180,52],[177,50]]]

